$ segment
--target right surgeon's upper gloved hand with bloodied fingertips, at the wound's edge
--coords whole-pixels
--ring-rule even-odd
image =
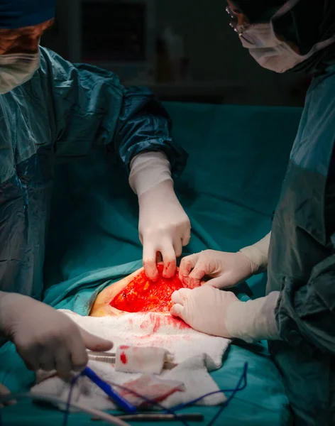
[[[216,288],[233,287],[258,272],[258,265],[242,253],[205,250],[182,259],[179,277],[182,283],[195,288],[210,285]],[[204,278],[212,278],[206,283]]]

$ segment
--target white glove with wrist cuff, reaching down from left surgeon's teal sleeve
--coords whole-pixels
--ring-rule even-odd
[[[143,244],[143,266],[150,280],[158,278],[156,263],[163,258],[163,276],[170,278],[176,257],[190,241],[190,219],[173,190],[170,163],[164,153],[144,152],[131,161],[129,184],[138,195],[138,230]]]

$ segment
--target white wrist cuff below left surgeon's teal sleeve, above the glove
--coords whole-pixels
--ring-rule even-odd
[[[144,152],[131,161],[129,185],[138,197],[166,180],[172,182],[170,163],[164,153]]]

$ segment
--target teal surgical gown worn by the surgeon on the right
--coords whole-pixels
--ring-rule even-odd
[[[273,219],[268,288],[281,290],[270,350],[296,426],[335,425],[335,65],[315,78]]]

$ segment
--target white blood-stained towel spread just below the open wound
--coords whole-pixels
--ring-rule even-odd
[[[199,398],[206,393],[219,391],[208,371],[220,368],[222,357],[230,340],[209,336],[188,327],[181,320],[152,312],[131,313],[119,317],[82,317],[63,310],[80,327],[92,334],[114,342],[114,352],[118,346],[158,346],[174,356],[178,364],[172,370],[164,370],[160,378],[184,383],[185,391],[167,397],[162,405],[171,408],[180,403]],[[100,361],[89,361],[89,366],[105,381],[122,385],[139,378],[141,373],[115,371],[114,366]],[[52,393],[66,401],[69,385],[60,378],[43,380],[38,375],[38,383],[31,390],[35,393]],[[117,388],[115,388],[117,390]],[[72,400],[100,410],[115,408],[109,398],[87,378],[80,378]],[[217,405],[226,400],[223,394],[216,394],[200,401],[202,405]]]

